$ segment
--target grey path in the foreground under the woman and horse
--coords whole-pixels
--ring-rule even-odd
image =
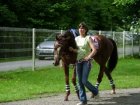
[[[110,91],[100,91],[98,99],[90,99],[87,93],[88,105],[140,105],[140,88],[118,89],[117,94],[111,95]],[[32,100],[0,103],[0,105],[76,105],[79,102],[76,94],[71,94],[69,101],[63,101],[64,94]]]

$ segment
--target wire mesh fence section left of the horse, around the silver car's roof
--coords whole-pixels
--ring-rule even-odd
[[[59,30],[35,29],[35,46]],[[33,29],[0,27],[0,59],[31,58]]]

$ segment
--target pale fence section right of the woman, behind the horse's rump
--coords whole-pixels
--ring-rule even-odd
[[[99,33],[115,40],[119,57],[124,58],[128,55],[134,56],[134,54],[140,55],[140,33],[132,33],[130,31],[99,31]]]

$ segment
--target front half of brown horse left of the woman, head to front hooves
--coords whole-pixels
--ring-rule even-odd
[[[60,60],[62,61],[62,67],[65,73],[65,88],[66,88],[66,96],[64,101],[68,101],[68,96],[70,95],[70,85],[69,85],[69,66],[70,64],[75,65],[77,53],[69,51],[69,46],[76,48],[77,45],[75,42],[75,37],[78,35],[77,31],[69,30],[66,31],[63,35],[57,35],[54,43],[54,65],[58,66]],[[73,75],[72,75],[72,83],[75,87],[75,92],[79,97],[79,90],[76,84],[76,68],[73,66]]]

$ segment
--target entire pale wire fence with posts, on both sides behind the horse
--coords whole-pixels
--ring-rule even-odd
[[[45,38],[55,36],[62,30],[0,27],[0,61],[9,59],[32,59],[35,67],[36,46]],[[89,30],[89,34],[103,34],[113,38],[118,46],[119,57],[140,55],[140,33]]]

